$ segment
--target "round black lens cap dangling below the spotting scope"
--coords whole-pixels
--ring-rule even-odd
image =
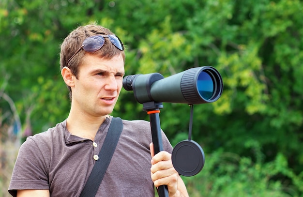
[[[172,151],[172,165],[179,174],[190,177],[204,167],[205,156],[201,146],[193,140],[179,142]]]

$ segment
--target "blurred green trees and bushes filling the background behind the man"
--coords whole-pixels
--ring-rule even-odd
[[[183,178],[191,197],[303,197],[300,0],[0,0],[0,196],[26,136],[67,117],[60,44],[91,22],[125,44],[126,75],[221,73],[221,98],[194,106],[192,139],[206,162]],[[187,138],[189,114],[164,103],[173,146]],[[148,120],[124,90],[112,115]]]

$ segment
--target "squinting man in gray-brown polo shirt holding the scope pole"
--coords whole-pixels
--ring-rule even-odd
[[[9,193],[18,197],[78,197],[105,140],[124,75],[124,47],[110,30],[87,25],[61,45],[61,75],[70,91],[67,119],[22,144]],[[152,197],[167,185],[170,197],[188,196],[171,163],[172,147],[162,133],[163,152],[153,155],[148,121],[123,120],[123,130],[96,196]],[[169,153],[170,152],[170,153]]]

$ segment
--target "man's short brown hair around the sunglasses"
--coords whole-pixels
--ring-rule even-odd
[[[78,67],[84,60],[85,52],[81,49],[66,65],[67,61],[72,57],[72,55],[78,50],[83,41],[94,35],[109,35],[113,34],[107,28],[104,28],[100,25],[90,24],[86,26],[80,26],[73,30],[62,42],[61,44],[61,52],[60,52],[60,70],[64,66],[67,66],[71,69],[71,72],[74,76],[78,76]],[[108,38],[105,37],[105,43],[101,49],[93,52],[92,54],[109,60],[117,55],[122,55],[123,61],[125,62],[125,53],[124,51],[119,50],[115,45],[113,45]],[[72,100],[72,90],[71,87],[67,86],[69,90],[70,99]]]

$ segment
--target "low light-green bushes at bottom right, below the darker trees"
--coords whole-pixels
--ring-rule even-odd
[[[279,180],[282,176],[285,177]],[[300,193],[289,182],[294,182],[302,192],[302,176],[292,173],[282,154],[265,164],[218,150],[206,154],[205,167],[196,177],[183,180],[191,197],[299,197]]]

